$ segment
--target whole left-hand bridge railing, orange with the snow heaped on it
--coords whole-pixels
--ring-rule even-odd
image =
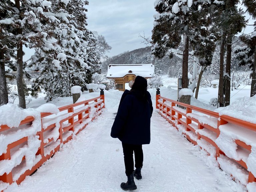
[[[6,106],[2,113],[8,112],[6,109],[12,107],[16,109],[12,110],[15,114],[10,113],[6,116],[16,119],[0,119],[0,191],[13,182],[19,184],[26,176],[31,175],[63,144],[100,115],[102,108],[105,107],[104,92],[101,91],[100,94],[99,97],[79,103],[60,108],[55,106],[54,110],[47,109],[55,111],[57,115],[40,113],[42,108],[45,110],[54,106],[53,104],[45,104],[47,106],[41,106],[41,110],[38,111],[23,111],[12,104]],[[18,123],[15,125],[12,121]]]

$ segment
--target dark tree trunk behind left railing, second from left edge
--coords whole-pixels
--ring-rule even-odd
[[[20,10],[20,1],[15,0],[15,5],[18,10]],[[21,13],[20,13],[21,15]],[[21,16],[20,16],[20,19]],[[22,28],[19,28],[17,30],[18,34],[22,34]],[[23,49],[22,49],[22,43],[17,44],[17,89],[18,89],[18,95],[19,95],[19,107],[25,109],[26,108],[26,100],[25,100],[25,94],[23,89]]]

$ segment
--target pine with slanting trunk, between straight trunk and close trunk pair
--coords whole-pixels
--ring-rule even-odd
[[[194,63],[193,65],[193,82],[190,88],[194,91],[196,86],[195,98],[198,96],[200,81],[204,70],[211,65],[213,53],[216,47],[216,41],[218,39],[218,31],[216,31],[213,26],[213,20],[215,17],[214,13],[215,5],[209,2],[201,2],[200,9],[194,11],[193,20],[196,25],[191,28],[191,46],[193,51],[191,51],[191,59]],[[196,67],[196,64],[198,67]],[[197,69],[199,69],[197,71]],[[198,81],[196,84],[196,73],[198,73]]]

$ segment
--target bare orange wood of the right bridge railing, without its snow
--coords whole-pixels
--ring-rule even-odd
[[[215,133],[217,138],[221,134],[221,131],[220,131],[219,127],[222,126],[222,125],[225,125],[227,123],[237,125],[237,126],[241,127],[241,129],[246,128],[246,129],[249,129],[251,131],[256,132],[256,124],[255,123],[251,123],[251,122],[246,121],[246,120],[241,120],[241,119],[237,119],[237,118],[234,118],[234,117],[230,117],[228,115],[220,115],[217,112],[209,111],[207,109],[202,109],[202,108],[199,108],[199,107],[196,107],[196,106],[188,105],[188,104],[181,103],[181,102],[178,102],[178,101],[174,101],[174,100],[171,100],[171,99],[168,99],[168,98],[165,98],[165,97],[161,97],[159,93],[160,92],[158,90],[157,93],[156,93],[156,109],[159,109],[159,114],[163,118],[165,118],[169,123],[171,123],[174,127],[176,127],[177,129],[179,128],[179,124],[182,124],[182,126],[184,126],[182,129],[185,128],[185,131],[182,131],[182,133],[185,134],[186,138],[190,142],[192,142],[194,145],[197,145],[198,140],[201,140],[201,138],[203,140],[207,141],[208,143],[210,143],[211,145],[213,145],[216,149],[215,152],[216,152],[217,162],[218,162],[218,157],[220,157],[220,154],[225,155],[224,152],[221,151],[221,149],[218,147],[218,145],[215,143],[215,141],[210,139],[210,137],[207,137],[205,135],[201,135],[199,131],[196,132],[194,130],[194,128],[190,126],[190,123],[192,121],[194,121],[198,124],[198,130],[207,129],[208,131],[211,131],[212,133]],[[159,101],[159,99],[162,99],[163,101]],[[171,105],[169,106],[168,104],[164,104],[165,101],[170,102]],[[173,106],[175,106],[175,105],[180,105],[180,106],[186,107],[186,109],[187,109],[186,113],[184,114],[183,110],[174,109]],[[165,107],[167,107],[166,110],[165,110]],[[216,119],[217,127],[212,127],[214,125],[211,126],[206,121],[200,122],[199,121],[200,118],[195,119],[195,118],[189,117],[188,114],[191,113],[191,110],[201,112],[202,114],[205,114],[205,117],[207,117],[206,115],[208,115],[208,116],[217,118]],[[171,111],[171,113],[167,112],[167,111]],[[182,116],[186,117],[186,123],[181,121]],[[175,121],[177,121],[177,123]],[[192,131],[192,133],[195,134],[194,136],[197,136],[196,140],[192,140],[190,138],[191,133],[189,131]],[[236,139],[235,143],[237,145],[239,145],[240,147],[242,147],[242,148],[244,148],[248,151],[251,151],[251,146],[247,145],[244,141],[240,141],[239,139]],[[206,149],[204,149],[204,150],[206,150]],[[228,150],[228,149],[225,149],[225,150]],[[209,151],[207,151],[207,153],[211,154]],[[239,160],[239,161],[236,161],[235,159],[233,159],[233,160],[234,160],[234,162],[237,162],[238,164],[242,165],[248,171],[248,173],[249,173],[248,182],[256,182],[256,175],[253,175],[248,170],[247,163],[244,160]]]

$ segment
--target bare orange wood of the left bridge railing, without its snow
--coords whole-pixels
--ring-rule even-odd
[[[0,176],[0,181],[5,182],[5,183],[9,183],[12,184],[13,182],[16,182],[17,184],[19,184],[21,181],[23,181],[25,179],[26,176],[30,175],[31,173],[33,173],[36,169],[38,169],[38,167],[40,167],[47,159],[49,159],[54,153],[56,153],[63,144],[65,144],[66,142],[68,142],[69,140],[72,139],[74,134],[78,134],[81,130],[83,130],[87,124],[89,123],[89,121],[93,121],[96,116],[101,114],[101,110],[102,108],[105,107],[105,103],[104,103],[104,92],[101,91],[101,95],[99,97],[95,97],[92,99],[88,99],[85,101],[81,101],[79,103],[74,103],[74,104],[70,104],[67,106],[63,106],[58,108],[59,111],[65,111],[66,114],[68,114],[68,117],[64,116],[62,119],[57,118],[56,121],[53,121],[51,125],[48,125],[45,129],[43,128],[43,124],[41,125],[41,130],[37,131],[37,133],[35,135],[39,136],[39,140],[41,141],[40,147],[38,148],[38,151],[35,153],[35,155],[41,155],[41,159],[39,162],[37,162],[32,168],[29,168],[28,170],[26,170],[24,173],[22,173],[18,179],[13,180],[13,176],[12,176],[12,171],[8,174],[4,173],[3,175]],[[100,99],[100,100],[99,100]],[[81,108],[81,110],[77,110],[74,113],[74,107],[79,106],[79,105],[87,105],[89,104],[89,102],[93,102],[92,106],[88,106],[88,108],[84,109],[84,107]],[[104,105],[102,105],[102,103]],[[89,117],[89,109],[91,107],[95,107],[96,112],[94,112],[94,114],[92,115],[92,117]],[[72,113],[70,113],[72,112]],[[86,114],[86,115],[84,115]],[[43,117],[52,115],[52,113],[41,113],[41,120]],[[54,117],[53,117],[54,118]],[[74,118],[78,118],[77,121],[74,121]],[[88,121],[89,120],[89,121]],[[32,116],[28,116],[25,119],[23,119],[20,122],[20,125],[24,125],[24,124],[31,124],[34,121],[34,117]],[[66,127],[62,127],[62,123],[68,121],[69,125]],[[57,127],[58,124],[58,127]],[[19,125],[19,126],[20,126]],[[49,131],[50,129],[54,129],[56,128],[58,129],[58,139],[57,141],[52,138],[44,138],[44,133],[46,131]],[[0,133],[2,131],[11,129],[10,127],[8,127],[7,125],[1,125],[0,127]],[[63,138],[63,134],[69,134],[68,137],[65,137],[65,139]],[[47,144],[44,143],[44,139],[47,139]],[[7,145],[7,149],[6,152],[3,153],[2,155],[0,155],[0,160],[10,160],[11,159],[11,149],[19,146],[23,143],[26,143],[28,140],[28,136],[20,138],[17,141],[13,141],[12,143]],[[54,145],[54,148],[47,154],[45,154],[45,147],[50,147],[51,142],[57,142],[57,145]],[[24,161],[25,157],[22,157],[22,159],[19,159],[20,161]],[[0,167],[1,168],[1,167]],[[2,192],[2,191],[1,191]]]

